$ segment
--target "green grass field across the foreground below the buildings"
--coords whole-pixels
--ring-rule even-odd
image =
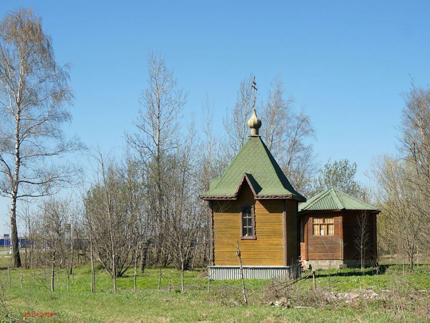
[[[96,273],[96,293],[91,293],[91,268],[82,266],[74,270],[74,281],[67,291],[66,274],[58,271],[55,292],[50,291],[49,269],[23,271],[23,288],[20,288],[20,270],[0,271],[0,281],[6,307],[0,309],[2,322],[428,322],[429,266],[420,265],[413,271],[400,265],[381,267],[376,275],[373,269],[363,276],[357,269],[331,271],[331,290],[351,292],[385,291],[392,299],[360,300],[354,303],[337,302],[325,305],[307,304],[309,308],[271,306],[266,299],[269,280],[247,280],[249,304],[244,305],[240,281],[213,281],[207,293],[207,279],[199,279],[202,270],[187,271],[186,292],[180,291],[180,271],[163,268],[161,290],[158,290],[158,269],[145,269],[138,275],[138,291],[133,292],[132,271],[117,280],[118,293],[113,294],[112,279],[100,267]],[[173,290],[167,291],[170,276]],[[328,271],[317,272],[318,291],[328,289]],[[272,282],[273,284],[273,282]],[[316,293],[312,279],[297,282],[294,288],[302,295]],[[413,292],[419,290],[418,296]],[[393,291],[393,292],[388,292]],[[403,294],[402,294],[403,293]],[[396,294],[396,295],[397,295]],[[415,294],[414,294],[415,295]],[[300,301],[298,301],[300,302]],[[1,304],[0,304],[1,305]],[[309,306],[310,305],[310,306]],[[400,307],[399,307],[400,305]],[[52,317],[29,317],[28,312],[53,313]]]

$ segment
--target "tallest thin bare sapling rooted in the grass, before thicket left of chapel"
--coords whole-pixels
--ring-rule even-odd
[[[112,276],[116,293],[116,277],[133,263],[139,217],[128,208],[129,192],[121,169],[101,153],[95,158],[98,178],[84,198],[85,216],[95,254]]]

